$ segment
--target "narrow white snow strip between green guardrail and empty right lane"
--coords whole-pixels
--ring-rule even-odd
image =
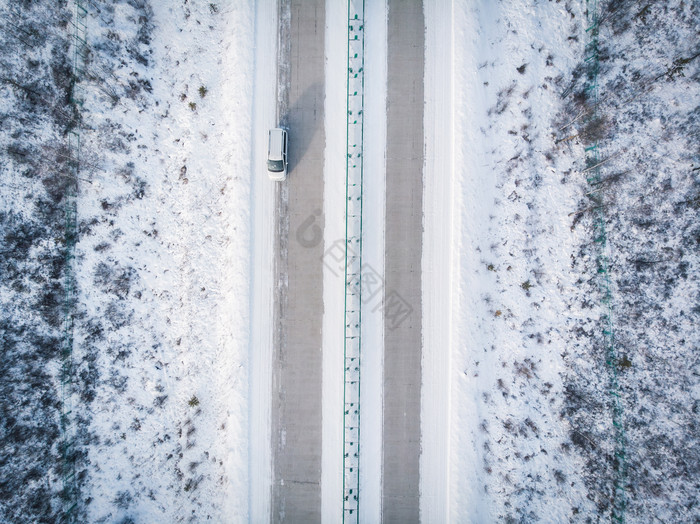
[[[384,278],[386,178],[387,3],[365,2],[365,100],[362,265]],[[367,279],[371,282],[371,279]],[[380,522],[382,510],[382,391],[384,390],[384,290],[362,312],[362,401],[360,403],[360,522]]]

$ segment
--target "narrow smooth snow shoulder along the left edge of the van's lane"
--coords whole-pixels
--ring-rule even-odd
[[[277,184],[268,179],[268,130],[277,127],[277,2],[255,6],[255,93],[251,150],[251,319],[250,319],[250,522],[270,520],[272,487],[271,419],[272,354],[275,332],[273,303],[274,217]]]

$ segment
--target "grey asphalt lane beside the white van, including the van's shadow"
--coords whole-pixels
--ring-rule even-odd
[[[289,176],[277,207],[272,522],[321,521],[324,4],[280,0],[280,55],[287,55],[280,80],[289,83],[280,122],[289,129]]]

